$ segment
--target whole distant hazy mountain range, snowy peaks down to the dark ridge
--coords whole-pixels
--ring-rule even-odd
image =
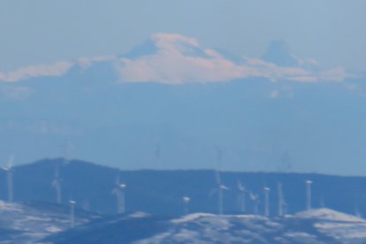
[[[155,34],[116,57],[0,73],[0,160],[126,170],[364,174],[364,75],[273,42],[263,58]],[[336,165],[336,166],[335,166]]]

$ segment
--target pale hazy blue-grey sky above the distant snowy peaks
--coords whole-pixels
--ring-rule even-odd
[[[259,57],[283,39],[324,67],[365,71],[366,1],[3,0],[0,71],[121,54],[157,32]]]

